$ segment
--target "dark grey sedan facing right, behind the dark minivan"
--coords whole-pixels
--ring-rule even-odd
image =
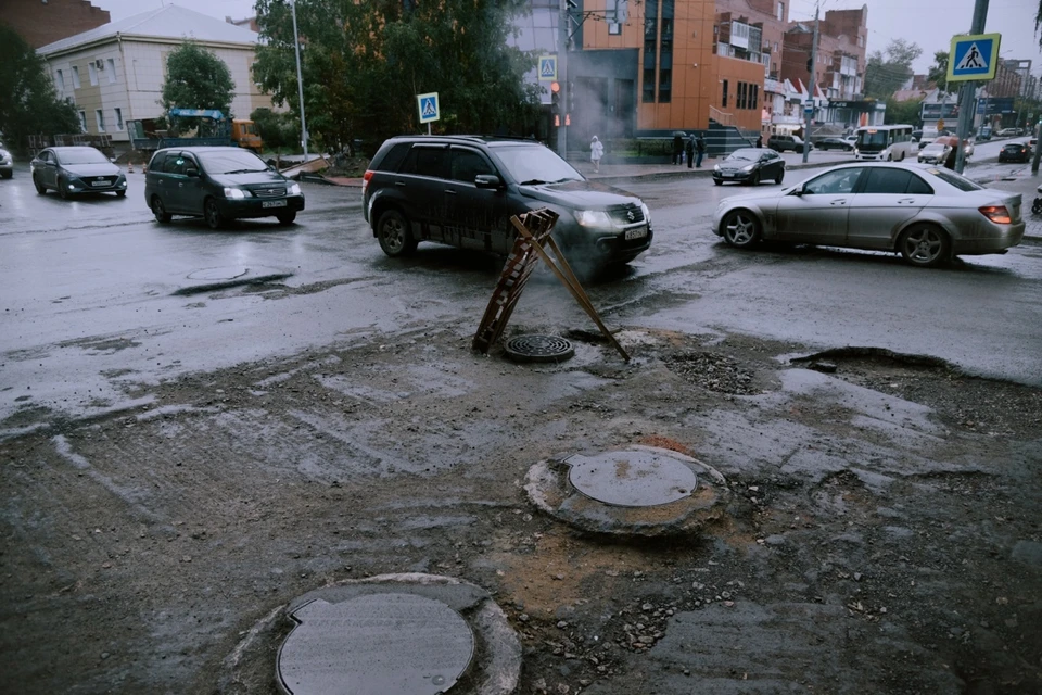
[[[47,148],[33,157],[29,166],[40,195],[49,188],[64,199],[79,193],[127,194],[127,177],[96,148]]]

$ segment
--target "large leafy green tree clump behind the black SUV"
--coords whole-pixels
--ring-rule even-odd
[[[420,130],[417,94],[439,92],[442,132],[493,132],[531,118],[535,59],[507,46],[524,0],[297,0],[308,131],[328,148],[355,138]],[[257,0],[255,77],[300,118],[294,37],[287,0]]]

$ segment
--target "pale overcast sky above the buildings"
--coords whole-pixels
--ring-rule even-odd
[[[302,2],[306,0],[301,0]],[[683,0],[678,0],[683,1]],[[113,21],[165,4],[179,4],[224,20],[253,15],[253,0],[91,0],[107,10]],[[815,0],[790,0],[790,20],[814,17]],[[969,31],[974,21],[974,0],[822,0],[822,11],[850,10],[868,5],[868,52],[886,49],[891,38],[914,41],[923,56],[913,65],[925,73],[933,62],[933,52],[949,50],[952,36]],[[1003,58],[1031,60],[1031,74],[1042,74],[1042,52],[1034,34],[1035,0],[991,0],[987,33],[1002,34]]]

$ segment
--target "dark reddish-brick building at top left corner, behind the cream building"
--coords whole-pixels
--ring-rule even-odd
[[[40,48],[107,24],[109,12],[89,0],[2,0],[0,23]]]

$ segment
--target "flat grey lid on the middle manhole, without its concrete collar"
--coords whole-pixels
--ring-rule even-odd
[[[650,507],[689,496],[698,478],[683,462],[645,451],[572,456],[569,482],[587,497],[621,507]]]

